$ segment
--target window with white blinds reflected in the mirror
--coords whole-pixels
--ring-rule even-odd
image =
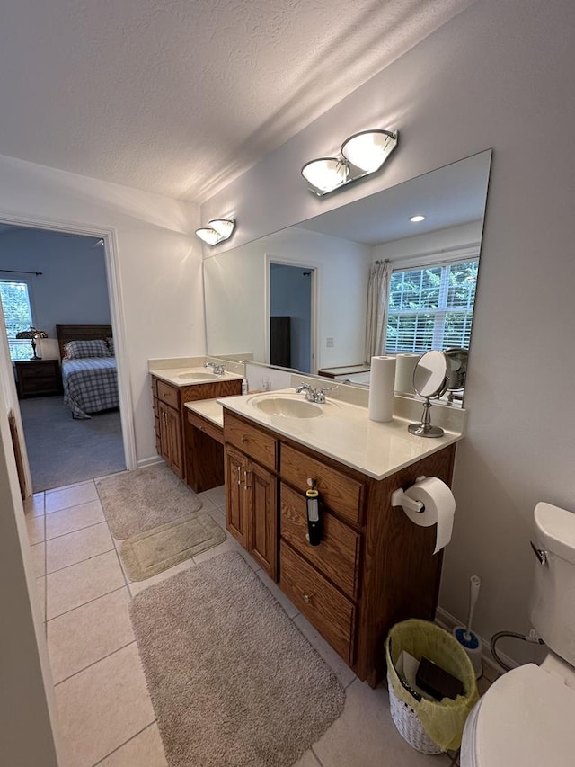
[[[479,259],[394,272],[385,352],[469,348]]]

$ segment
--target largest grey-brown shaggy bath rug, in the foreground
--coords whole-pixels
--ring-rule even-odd
[[[343,710],[341,682],[235,552],[130,604],[170,767],[288,767]]]

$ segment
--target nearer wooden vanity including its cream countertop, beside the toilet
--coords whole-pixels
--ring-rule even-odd
[[[359,678],[376,686],[394,623],[434,619],[442,563],[442,552],[433,554],[435,528],[410,522],[391,495],[420,476],[450,485],[461,433],[412,437],[403,419],[376,424],[365,407],[340,402],[310,415],[311,403],[293,390],[220,404],[228,531]],[[318,546],[307,539],[310,486],[321,499]]]

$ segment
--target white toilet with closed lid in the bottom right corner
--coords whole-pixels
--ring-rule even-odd
[[[530,617],[549,655],[503,674],[474,706],[461,767],[575,765],[575,513],[537,504],[535,553]]]

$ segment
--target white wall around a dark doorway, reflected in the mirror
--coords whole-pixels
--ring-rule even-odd
[[[208,352],[217,356],[247,350],[254,360],[266,360],[267,254],[274,261],[317,269],[317,367],[360,361],[370,253],[367,245],[290,228],[206,259]],[[345,298],[334,301],[333,296]],[[331,348],[328,337],[334,339]]]

